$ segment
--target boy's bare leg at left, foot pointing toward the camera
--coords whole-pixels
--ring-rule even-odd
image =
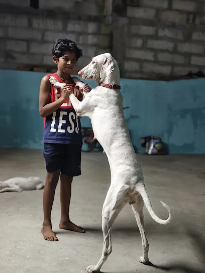
[[[58,183],[60,171],[54,173],[47,173],[46,183],[43,192],[43,228],[41,230],[44,239],[48,241],[58,241],[55,233],[52,230],[51,224],[51,210],[55,196],[55,189]]]

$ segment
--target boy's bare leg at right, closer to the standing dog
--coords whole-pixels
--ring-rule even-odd
[[[61,229],[71,230],[84,233],[82,227],[79,227],[70,221],[69,207],[71,197],[71,183],[73,178],[64,174],[60,176],[60,203],[61,203],[61,219],[59,227]]]

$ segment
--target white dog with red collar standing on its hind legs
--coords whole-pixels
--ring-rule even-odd
[[[99,272],[102,265],[112,252],[112,225],[126,204],[132,208],[142,237],[143,254],[140,262],[148,264],[149,244],[145,236],[143,206],[151,217],[159,224],[168,224],[171,220],[169,207],[167,220],[160,219],[153,211],[150,199],[145,189],[144,177],[139,166],[130,135],[126,125],[123,99],[120,93],[120,71],[118,63],[110,53],[101,54],[78,72],[83,79],[93,79],[98,86],[85,94],[80,102],[70,94],[71,103],[78,116],[88,116],[91,119],[95,138],[104,148],[111,168],[111,185],[102,207],[102,232],[104,243],[102,253],[96,265],[86,268],[87,272]],[[78,78],[73,78],[76,85],[83,84]],[[56,87],[62,84],[51,79]]]

